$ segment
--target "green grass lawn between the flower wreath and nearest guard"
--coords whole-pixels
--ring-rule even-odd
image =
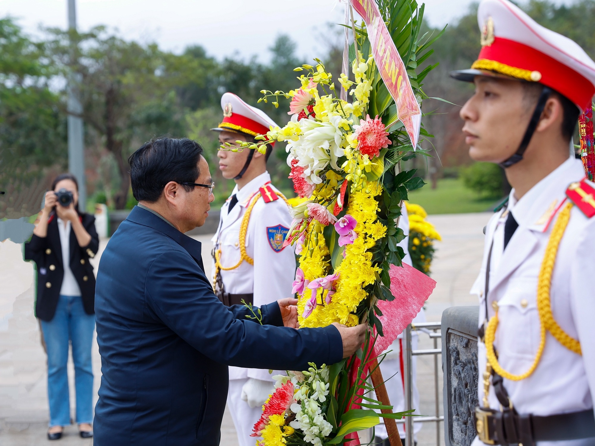
[[[436,189],[426,184],[409,193],[409,202],[422,206],[428,214],[491,211],[500,201],[479,197],[466,189],[461,178],[443,178]]]

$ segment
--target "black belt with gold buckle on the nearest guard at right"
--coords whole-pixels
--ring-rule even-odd
[[[562,441],[595,437],[593,409],[549,416],[519,415],[514,410],[503,412],[475,409],[475,428],[486,444],[508,446],[536,441]]]

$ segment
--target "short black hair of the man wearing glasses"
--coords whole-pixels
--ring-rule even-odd
[[[164,137],[146,142],[128,159],[134,198],[155,203],[170,181],[195,183],[201,174],[198,162],[203,152],[199,143],[187,138]],[[186,191],[193,189],[186,184],[182,187]]]

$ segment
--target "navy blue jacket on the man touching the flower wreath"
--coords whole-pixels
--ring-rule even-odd
[[[218,445],[228,365],[306,370],[342,359],[334,326],[285,328],[276,302],[261,311],[268,325],[224,306],[201,243],[135,207],[99,263],[95,446]]]

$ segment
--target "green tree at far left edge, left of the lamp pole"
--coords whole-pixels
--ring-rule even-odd
[[[0,19],[0,218],[39,211],[48,170],[66,165],[65,116],[48,87],[44,50],[14,20]]]

